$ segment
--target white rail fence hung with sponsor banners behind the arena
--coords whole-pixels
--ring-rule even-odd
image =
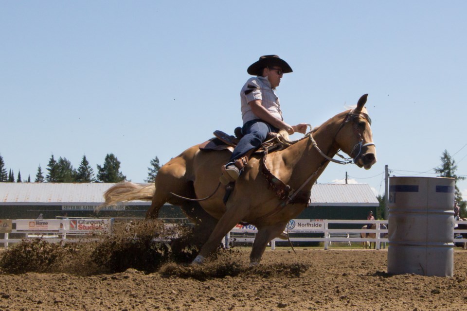
[[[4,238],[0,239],[5,248],[8,248],[9,243],[20,242],[24,238],[44,238],[50,242],[78,242],[81,241],[79,236],[89,234],[109,234],[113,225],[112,219],[19,219],[19,220],[0,220],[0,233],[4,234]],[[359,224],[361,226],[368,224],[376,224],[376,229],[329,229],[329,225],[340,224]],[[467,221],[455,221],[454,236],[461,233],[467,233],[467,230],[457,229],[457,225],[466,224]],[[6,228],[8,225],[11,227]],[[386,226],[384,228],[382,225]],[[387,239],[387,220],[304,220],[294,219],[287,225],[289,239],[291,242],[324,242],[324,249],[332,246],[333,242],[345,242],[351,244],[352,242],[375,242],[376,249],[381,246],[385,247]],[[5,230],[6,228],[6,230]],[[11,234],[23,234],[22,238],[10,238]],[[235,242],[253,242],[257,233],[253,225],[237,225],[225,237],[224,245],[229,247],[231,243]],[[321,233],[323,237],[296,237],[297,233]],[[375,238],[361,238],[361,233],[375,233]],[[275,248],[276,242],[285,242],[275,238],[271,241],[271,248]],[[467,242],[467,239],[455,239],[458,242]]]

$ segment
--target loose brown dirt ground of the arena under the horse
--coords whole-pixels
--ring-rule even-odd
[[[268,249],[249,268],[236,247],[203,267],[76,276],[0,274],[0,310],[467,310],[467,251],[454,277],[390,276],[387,250]]]

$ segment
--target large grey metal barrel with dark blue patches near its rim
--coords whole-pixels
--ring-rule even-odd
[[[454,178],[389,178],[388,273],[453,276],[454,191]]]

